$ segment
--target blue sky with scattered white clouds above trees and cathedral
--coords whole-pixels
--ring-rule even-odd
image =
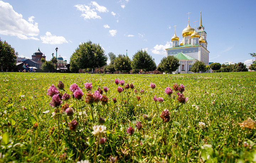
[[[132,56],[145,49],[160,63],[171,37],[188,24],[207,32],[209,62],[250,64],[256,52],[255,0],[0,0],[0,38],[19,56],[31,58],[38,47],[46,60],[59,54],[68,61],[82,42],[100,44],[105,53]]]

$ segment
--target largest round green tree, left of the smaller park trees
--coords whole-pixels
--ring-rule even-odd
[[[79,44],[70,57],[70,70],[94,69],[107,65],[107,56],[100,44],[92,43],[90,40]]]

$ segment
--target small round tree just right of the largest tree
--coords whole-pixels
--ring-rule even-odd
[[[126,55],[119,54],[114,60],[114,68],[123,73],[129,72],[132,69],[130,58]]]

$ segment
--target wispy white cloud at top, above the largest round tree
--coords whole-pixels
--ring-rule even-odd
[[[97,15],[97,12],[108,12],[107,8],[105,6],[100,6],[97,4],[97,2],[92,1],[89,6],[86,5],[75,5],[76,10],[79,10],[82,12],[81,16],[84,17],[84,19],[101,19],[100,16]],[[96,11],[95,11],[96,10]]]

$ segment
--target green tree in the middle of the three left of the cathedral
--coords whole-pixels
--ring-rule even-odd
[[[133,55],[132,68],[142,69],[142,73],[145,71],[150,71],[154,66],[154,61],[152,56],[150,56],[145,50],[138,50],[137,53]]]

